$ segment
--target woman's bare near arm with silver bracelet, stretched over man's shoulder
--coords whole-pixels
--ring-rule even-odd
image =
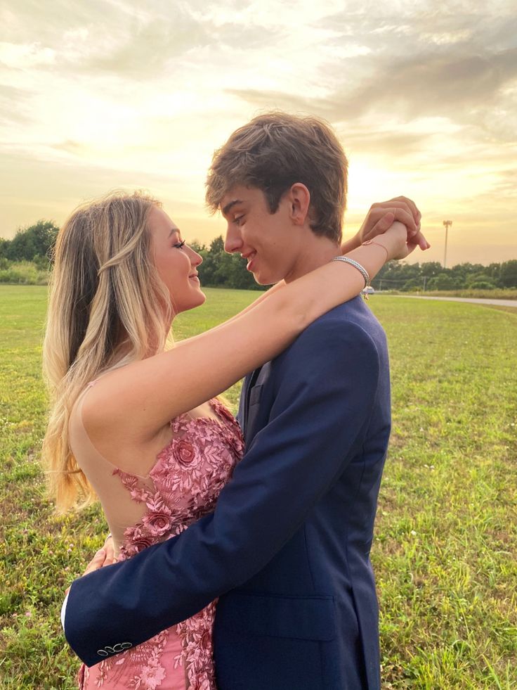
[[[393,224],[377,241],[389,258],[407,252],[401,224]],[[374,276],[386,260],[383,247],[360,247],[350,256]],[[87,430],[97,438],[119,433],[136,442],[150,440],[170,419],[276,357],[308,324],[358,295],[363,286],[357,269],[330,262],[168,352],[107,373],[84,400]]]

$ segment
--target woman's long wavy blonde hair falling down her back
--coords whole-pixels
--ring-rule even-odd
[[[79,393],[100,373],[166,344],[170,299],[147,228],[150,210],[160,206],[143,193],[111,193],[74,210],[58,234],[43,349],[51,410],[42,454],[61,513],[96,498],[69,447]]]

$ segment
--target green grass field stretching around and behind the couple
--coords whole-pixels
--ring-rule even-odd
[[[176,338],[256,297],[207,294]],[[393,379],[372,550],[383,688],[517,687],[517,310],[388,296],[369,305],[388,333]],[[98,509],[55,518],[44,498],[45,306],[46,288],[0,286],[2,689],[76,687],[60,604],[106,531]]]

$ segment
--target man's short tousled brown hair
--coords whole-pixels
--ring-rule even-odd
[[[346,155],[332,128],[318,117],[274,111],[236,129],[214,153],[207,176],[207,205],[216,212],[232,187],[258,187],[275,213],[295,182],[310,191],[310,228],[341,241],[346,208]]]

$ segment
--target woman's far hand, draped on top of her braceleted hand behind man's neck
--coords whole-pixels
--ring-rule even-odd
[[[375,203],[367,212],[358,233],[352,240],[343,244],[343,253],[351,251],[367,240],[372,240],[374,237],[384,234],[395,221],[400,221],[406,226],[407,242],[411,246],[410,251],[417,246],[421,250],[426,250],[431,245],[424,235],[421,234],[420,220],[421,213],[417,205],[405,196],[398,196],[388,201]]]

